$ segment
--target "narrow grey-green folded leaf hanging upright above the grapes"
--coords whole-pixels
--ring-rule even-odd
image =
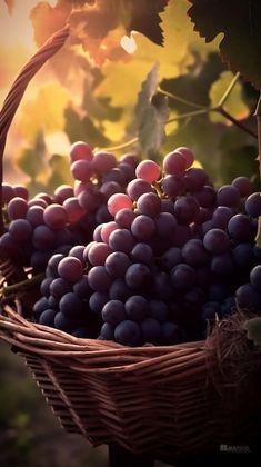
[[[141,149],[153,158],[163,140],[164,128],[169,117],[168,98],[155,96],[159,85],[159,63],[155,63],[142,82],[138,95],[135,117]]]

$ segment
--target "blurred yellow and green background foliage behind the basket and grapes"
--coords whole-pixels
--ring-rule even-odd
[[[64,24],[72,3],[0,1],[0,105],[22,64]],[[220,112],[192,115],[197,108],[217,106],[234,78],[220,58],[220,36],[205,43],[195,34],[187,14],[188,0],[154,3],[162,8],[152,12],[147,34],[128,33],[118,17],[113,22],[112,12],[102,38],[97,39],[93,31],[80,34],[80,40],[69,40],[44,64],[10,128],[6,181],[24,182],[31,196],[71,183],[68,153],[76,140],[111,149],[119,157],[138,151],[159,161],[175,147],[188,146],[215,185],[239,175],[257,179],[257,138]],[[106,2],[98,4],[102,8]],[[97,28],[104,29],[108,17],[102,18],[98,16]],[[77,16],[71,28],[79,32]],[[163,100],[167,95],[168,101]],[[258,91],[239,77],[224,110],[257,132],[257,100]],[[143,113],[138,111],[141,107]],[[165,125],[167,110],[170,122]],[[144,120],[148,125],[142,126]],[[150,143],[154,145],[155,137],[160,142],[152,153]],[[22,362],[3,345],[0,379],[1,466],[104,465],[103,448],[93,454],[80,437],[61,431]]]

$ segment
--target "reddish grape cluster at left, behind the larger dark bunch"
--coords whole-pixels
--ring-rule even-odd
[[[87,245],[97,225],[109,221],[107,200],[124,191],[133,178],[137,156],[117,161],[110,152],[93,153],[78,141],[71,147],[74,186],[62,185],[53,196],[38,193],[29,200],[22,186],[2,186],[7,232],[0,238],[0,256],[23,267],[44,271],[53,254],[68,254],[72,246]]]

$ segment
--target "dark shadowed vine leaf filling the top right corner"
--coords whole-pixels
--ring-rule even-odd
[[[207,42],[222,33],[220,53],[232,71],[261,88],[261,2],[189,0],[188,14]]]

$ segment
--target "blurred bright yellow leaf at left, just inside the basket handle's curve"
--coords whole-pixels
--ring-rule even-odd
[[[18,122],[20,135],[32,142],[40,129],[47,135],[63,130],[63,112],[70,98],[69,91],[58,83],[41,88],[33,100],[28,100],[21,106]]]

